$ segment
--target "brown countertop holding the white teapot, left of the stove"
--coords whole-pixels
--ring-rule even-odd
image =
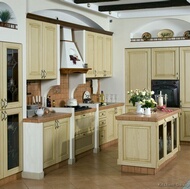
[[[42,117],[34,116],[31,118],[23,119],[23,122],[30,122],[30,123],[44,123],[48,121],[53,121],[56,119],[63,119],[71,117],[71,113],[48,113],[43,115]]]

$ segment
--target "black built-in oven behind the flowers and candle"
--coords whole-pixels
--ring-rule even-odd
[[[180,107],[180,83],[179,80],[152,80],[151,90],[155,95],[159,95],[160,91],[163,95],[167,94],[167,107]]]

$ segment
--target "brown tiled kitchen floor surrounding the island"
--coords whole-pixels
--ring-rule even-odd
[[[43,180],[21,179],[0,189],[181,189],[190,180],[190,146],[156,175],[121,173],[117,145],[50,172]]]

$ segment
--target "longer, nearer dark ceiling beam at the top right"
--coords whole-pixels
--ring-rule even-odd
[[[186,0],[168,0],[168,1],[157,1],[150,3],[131,3],[131,4],[117,4],[117,5],[105,5],[99,6],[99,11],[121,11],[121,10],[137,10],[137,9],[155,9],[155,8],[166,8],[166,7],[180,7],[190,6]]]

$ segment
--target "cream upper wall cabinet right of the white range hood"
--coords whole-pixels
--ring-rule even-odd
[[[74,34],[84,62],[92,69],[86,77],[111,77],[112,36],[89,31],[76,31]]]

